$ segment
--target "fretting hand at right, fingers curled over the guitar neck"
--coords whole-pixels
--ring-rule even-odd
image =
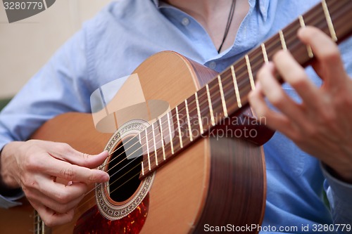
[[[258,72],[257,88],[249,96],[258,117],[291,138],[298,147],[322,160],[346,182],[352,183],[352,81],[344,70],[339,48],[314,27],[302,28],[298,37],[315,56],[313,68],[324,81],[315,86],[288,51],[279,51]],[[275,79],[280,74],[301,97],[296,103]],[[264,97],[279,110],[270,110]]]

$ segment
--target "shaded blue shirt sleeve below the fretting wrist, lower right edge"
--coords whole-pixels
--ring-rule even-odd
[[[329,200],[332,219],[334,224],[341,225],[339,233],[344,233],[341,231],[342,226],[352,225],[352,184],[344,183],[335,178],[324,164],[322,164],[322,171],[326,178],[324,189]]]

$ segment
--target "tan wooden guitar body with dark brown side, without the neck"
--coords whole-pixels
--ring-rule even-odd
[[[216,74],[170,51],[151,56],[135,73],[146,100],[165,100],[170,108]],[[89,154],[101,152],[112,141],[111,134],[96,131],[92,115],[80,113],[49,120],[32,138],[66,142]],[[102,216],[93,197],[88,193],[75,219],[51,228],[51,233],[201,233],[228,224],[259,226],[265,207],[263,149],[241,138],[199,138],[157,169],[142,203],[118,220]]]

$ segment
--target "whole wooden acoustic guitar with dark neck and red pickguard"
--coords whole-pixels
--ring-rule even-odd
[[[90,154],[108,150],[100,169],[111,179],[92,186],[70,223],[47,228],[24,204],[1,212],[1,233],[32,232],[33,220],[34,233],[203,233],[220,226],[237,233],[251,226],[250,233],[258,233],[266,193],[260,145],[273,132],[251,116],[248,93],[256,73],[280,49],[308,65],[314,55],[297,30],[313,25],[340,42],[352,32],[351,12],[351,0],[322,1],[220,74],[172,51],[151,56],[134,74],[146,110],[153,100],[165,100],[168,108],[122,124],[105,108],[113,134],[96,131],[94,114],[49,120],[32,138]],[[130,102],[122,96],[114,98]]]

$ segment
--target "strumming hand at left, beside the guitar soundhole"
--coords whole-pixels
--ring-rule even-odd
[[[44,223],[55,226],[73,219],[90,183],[108,181],[105,171],[93,169],[107,156],[87,155],[65,143],[12,142],[1,152],[1,177],[9,188],[22,187]]]

